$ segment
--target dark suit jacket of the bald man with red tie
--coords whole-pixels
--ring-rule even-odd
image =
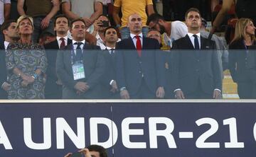
[[[130,95],[139,91],[142,79],[152,93],[165,86],[164,53],[158,51],[159,43],[143,37],[142,57],[139,57],[132,38],[117,42],[117,85],[126,87]],[[143,75],[143,76],[142,76]]]

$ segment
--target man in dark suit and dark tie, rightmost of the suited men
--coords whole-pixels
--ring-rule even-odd
[[[186,12],[188,34],[174,41],[172,74],[176,98],[220,98],[222,79],[215,42],[201,37],[201,14]]]

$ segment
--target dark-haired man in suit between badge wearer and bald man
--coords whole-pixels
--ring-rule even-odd
[[[105,29],[105,46],[106,50],[103,51],[103,56],[106,63],[106,71],[102,77],[102,94],[103,98],[120,98],[117,88],[116,79],[116,53],[115,45],[117,43],[117,30],[110,26]]]

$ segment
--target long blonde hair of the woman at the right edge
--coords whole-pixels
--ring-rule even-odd
[[[245,30],[247,25],[250,25],[252,20],[250,18],[240,18],[237,23],[235,23],[235,36],[232,42],[235,40],[240,40],[245,38]],[[255,40],[255,35],[250,35],[251,40]]]

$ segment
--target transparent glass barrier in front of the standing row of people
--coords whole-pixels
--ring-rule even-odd
[[[255,50],[88,50],[90,48],[2,50],[0,98],[256,97]]]

